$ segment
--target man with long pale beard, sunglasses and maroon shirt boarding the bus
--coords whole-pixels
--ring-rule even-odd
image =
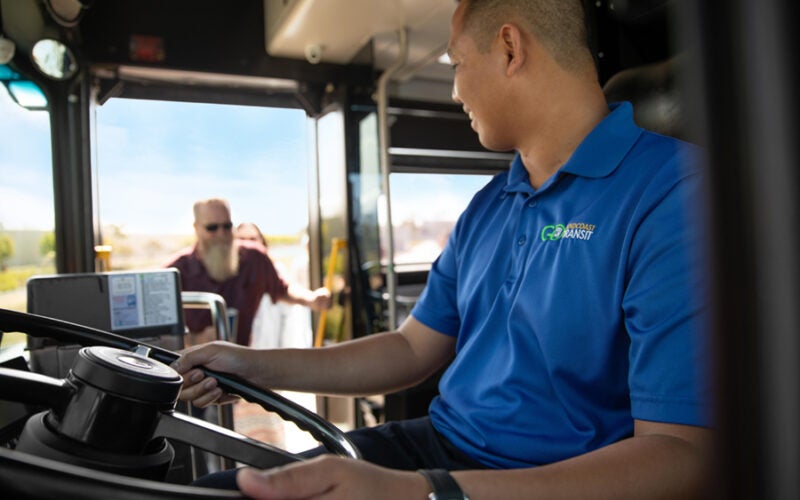
[[[235,240],[232,229],[227,200],[210,198],[196,202],[194,232],[197,242],[165,266],[180,271],[184,291],[219,294],[228,308],[238,311],[238,328],[233,332],[232,341],[250,344],[253,317],[265,293],[273,302],[300,304],[315,311],[330,307],[328,289],[309,290],[289,285],[278,274],[263,246]],[[215,339],[208,311],[186,311],[186,324],[190,331],[189,345]]]

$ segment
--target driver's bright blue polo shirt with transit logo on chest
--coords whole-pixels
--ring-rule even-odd
[[[538,190],[519,157],[459,219],[412,314],[457,336],[434,426],[498,468],[709,425],[697,151],[612,112]]]

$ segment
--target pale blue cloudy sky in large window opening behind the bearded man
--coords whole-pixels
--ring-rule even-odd
[[[308,220],[307,127],[300,110],[110,100],[97,111],[103,223],[191,231],[192,203],[219,196],[235,222],[297,233]]]

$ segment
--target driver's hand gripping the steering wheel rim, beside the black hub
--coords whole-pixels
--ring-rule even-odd
[[[209,342],[192,346],[180,351],[181,357],[173,361],[172,368],[183,376],[183,387],[180,399],[191,402],[198,408],[205,408],[211,404],[231,403],[238,400],[236,396],[223,392],[217,386],[217,380],[206,377],[198,366],[221,373],[242,375],[237,373],[237,368],[243,362],[243,346],[229,342]]]

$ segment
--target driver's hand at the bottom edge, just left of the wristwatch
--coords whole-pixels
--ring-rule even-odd
[[[269,470],[244,468],[236,483],[256,500],[408,500],[426,498],[430,492],[425,478],[416,472],[335,455]]]

